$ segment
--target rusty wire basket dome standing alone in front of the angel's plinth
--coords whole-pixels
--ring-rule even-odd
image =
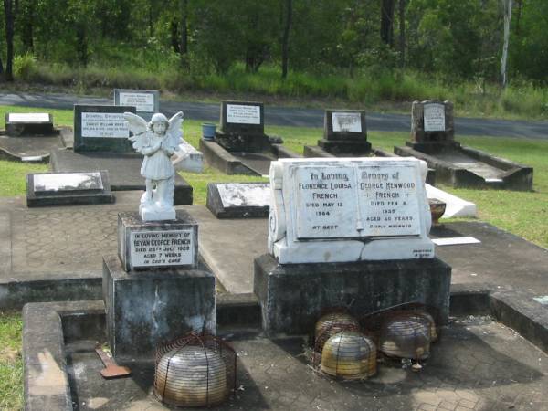
[[[217,406],[236,389],[236,352],[191,333],[156,350],[154,395],[170,406]]]

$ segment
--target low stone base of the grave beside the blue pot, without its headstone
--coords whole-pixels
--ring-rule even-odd
[[[268,175],[271,161],[300,157],[281,144],[269,144],[268,149],[260,153],[232,153],[217,142],[204,139],[200,140],[200,151],[211,167],[225,174]]]

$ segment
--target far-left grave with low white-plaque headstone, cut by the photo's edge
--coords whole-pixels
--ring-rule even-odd
[[[0,131],[0,156],[17,162],[47,163],[52,149],[72,144],[68,127],[56,128],[46,112],[5,114],[5,131]]]

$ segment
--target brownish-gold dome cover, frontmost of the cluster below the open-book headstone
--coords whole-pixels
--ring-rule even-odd
[[[361,332],[332,335],[321,350],[323,373],[345,380],[365,379],[376,373],[376,347]]]

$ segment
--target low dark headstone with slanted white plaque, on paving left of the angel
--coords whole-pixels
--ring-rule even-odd
[[[26,205],[113,203],[107,171],[26,175]]]

